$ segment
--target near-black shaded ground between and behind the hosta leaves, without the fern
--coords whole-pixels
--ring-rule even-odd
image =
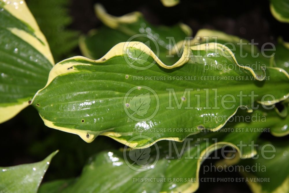
[[[29,2],[29,1],[28,1]],[[173,25],[183,22],[189,25],[193,34],[201,28],[216,29],[228,34],[255,39],[259,45],[265,42],[276,43],[282,36],[288,39],[289,26],[278,22],[269,10],[268,1],[184,1],[175,7],[166,8],[158,0],[132,1],[78,1],[72,0],[68,10],[72,16],[70,29],[86,34],[90,29],[100,27],[102,23],[93,10],[95,3],[101,3],[108,13],[115,16],[140,11],[155,25]],[[53,30],[53,29],[51,29]],[[81,55],[78,48],[75,55]],[[63,56],[65,59],[67,56]],[[58,62],[58,61],[55,61]],[[118,149],[122,144],[99,136],[87,144],[77,135],[64,133],[44,126],[37,111],[29,106],[12,120],[0,124],[0,166],[12,166],[32,163],[44,159],[52,151],[60,150],[53,158],[44,181],[76,177],[81,173],[88,157],[96,152]],[[271,139],[271,135],[264,134]],[[287,137],[288,138],[288,137]],[[212,160],[203,164],[210,165]],[[241,177],[238,172],[218,172],[200,174],[200,177]],[[251,192],[246,183],[200,183],[197,192]]]

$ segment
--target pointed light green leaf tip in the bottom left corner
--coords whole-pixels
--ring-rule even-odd
[[[36,193],[51,159],[57,152],[58,150],[40,162],[0,167],[0,192]]]

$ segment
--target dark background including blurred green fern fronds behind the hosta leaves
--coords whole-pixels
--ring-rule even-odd
[[[49,3],[48,3],[49,2]],[[27,4],[36,17],[40,29],[45,34],[55,62],[69,56],[80,55],[77,48],[79,33],[100,27],[101,22],[95,17],[93,5],[95,1],[36,1],[29,0]],[[255,42],[277,43],[277,38],[283,36],[288,41],[288,25],[283,27],[271,15],[268,3],[264,1],[241,1],[237,9],[231,4],[208,1],[183,1],[172,8],[165,8],[159,1],[116,1],[110,6],[108,1],[101,2],[109,13],[123,15],[139,10],[151,23],[171,25],[181,21],[190,25],[194,34],[198,29],[211,28],[246,39],[255,38]],[[132,6],[134,5],[134,6]],[[250,6],[247,6],[250,5]],[[214,10],[218,7],[218,12]],[[194,11],[191,10],[194,8]],[[242,9],[240,9],[242,8]],[[37,12],[41,9],[41,12]],[[211,13],[214,12],[214,15]],[[176,15],[178,15],[176,17]],[[203,17],[199,17],[203,15]],[[252,19],[253,18],[253,19]],[[282,26],[282,27],[281,27]],[[57,29],[57,30],[52,30]],[[12,120],[0,125],[2,139],[0,141],[1,166],[31,163],[42,160],[56,149],[60,152],[53,158],[44,181],[59,178],[71,178],[80,174],[88,157],[105,149],[117,149],[122,145],[116,141],[99,136],[91,144],[85,143],[76,135],[60,132],[43,125],[35,109],[29,106]],[[270,134],[262,134],[263,139],[272,139]],[[287,137],[277,140],[287,140]],[[275,139],[276,140],[276,139]],[[211,160],[204,164],[210,164]],[[239,176],[237,173],[205,174],[206,177],[216,175]],[[238,187],[238,188],[236,188]],[[200,184],[198,192],[232,190],[232,192],[250,192],[247,185],[241,183]]]

